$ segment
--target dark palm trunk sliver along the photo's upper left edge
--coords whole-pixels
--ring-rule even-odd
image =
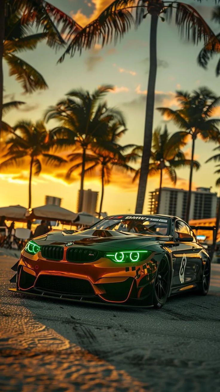
[[[0,1],[0,143],[2,131],[2,107],[3,107],[3,48],[5,37],[5,0]]]

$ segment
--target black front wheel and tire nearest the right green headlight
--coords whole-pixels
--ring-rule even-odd
[[[153,307],[154,309],[161,309],[169,295],[171,283],[171,267],[167,256],[164,256],[160,261],[156,272],[153,290]]]

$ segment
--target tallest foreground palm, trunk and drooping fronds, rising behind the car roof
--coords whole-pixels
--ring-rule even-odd
[[[200,1],[200,0],[199,0]],[[96,20],[85,26],[71,40],[64,54],[60,58],[62,62],[66,54],[73,56],[76,51],[82,48],[91,48],[96,42],[101,41],[104,46],[114,38],[122,38],[129,31],[135,22],[132,11],[136,9],[136,26],[138,26],[147,15],[151,17],[150,29],[150,69],[147,87],[147,102],[145,112],[145,130],[143,158],[140,169],[140,180],[136,201],[136,213],[140,214],[143,210],[147,176],[149,172],[149,161],[151,158],[151,142],[153,130],[153,113],[155,102],[155,83],[156,83],[156,41],[158,19],[165,19],[171,22],[175,13],[175,23],[182,36],[193,44],[198,44],[204,39],[205,44],[212,38],[215,42],[215,35],[205,23],[202,16],[189,4],[176,1],[162,0],[115,0],[98,16]],[[163,16],[161,16],[163,15]]]

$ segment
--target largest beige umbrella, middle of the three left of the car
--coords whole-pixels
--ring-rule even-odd
[[[61,221],[62,223],[73,223],[77,215],[75,212],[53,204],[42,205],[26,211],[26,218],[30,220],[45,219],[47,221]]]

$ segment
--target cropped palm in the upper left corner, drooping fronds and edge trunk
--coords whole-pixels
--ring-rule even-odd
[[[42,29],[30,34],[31,27]],[[58,29],[59,28],[59,29]],[[33,50],[36,44],[46,40],[50,47],[59,47],[81,29],[70,16],[45,0],[1,0],[0,1],[0,131],[3,102],[2,59],[9,65],[10,75],[22,82],[25,92],[36,88],[45,89],[47,84],[30,64],[16,56],[21,50]]]

